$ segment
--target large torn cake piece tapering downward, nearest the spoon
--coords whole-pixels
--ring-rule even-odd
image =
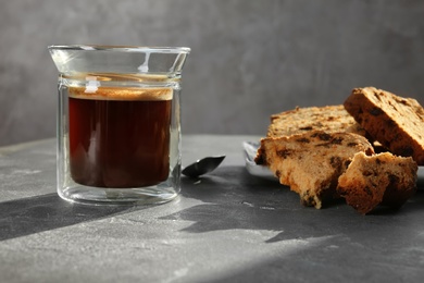
[[[312,131],[261,139],[255,163],[266,165],[300,196],[304,206],[321,208],[337,196],[338,177],[357,152],[374,153],[363,136]]]

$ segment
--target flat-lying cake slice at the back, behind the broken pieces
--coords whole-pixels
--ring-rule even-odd
[[[271,115],[267,137],[290,136],[311,131],[349,132],[366,136],[366,132],[345,110],[342,104],[308,107]]]

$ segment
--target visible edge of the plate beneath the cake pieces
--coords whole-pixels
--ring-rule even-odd
[[[244,142],[242,147],[246,157],[246,169],[251,175],[264,177],[264,179],[277,180],[266,167],[258,165],[257,163],[254,163],[254,157],[257,156],[259,143]],[[419,174],[419,182],[420,183],[424,182],[424,167],[419,167],[417,174]]]

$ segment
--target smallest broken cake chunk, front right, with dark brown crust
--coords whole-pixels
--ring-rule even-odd
[[[411,157],[359,152],[339,177],[337,193],[362,214],[378,205],[399,208],[416,190],[416,172]]]

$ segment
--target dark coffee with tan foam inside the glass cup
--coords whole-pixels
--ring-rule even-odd
[[[172,89],[84,89],[70,88],[72,179],[115,188],[166,180]]]

